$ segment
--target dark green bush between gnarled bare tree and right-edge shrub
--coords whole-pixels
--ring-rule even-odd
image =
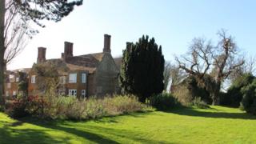
[[[236,78],[227,90],[227,93],[222,95],[221,104],[238,107],[242,101],[242,89],[249,86],[254,79],[255,77],[252,74],[243,74]]]

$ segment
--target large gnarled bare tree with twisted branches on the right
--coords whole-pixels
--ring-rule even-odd
[[[239,58],[234,38],[227,36],[225,30],[220,30],[218,36],[220,40],[217,46],[203,38],[194,38],[190,46],[190,57],[176,58],[179,67],[194,75],[210,92],[213,105],[219,104],[222,82],[244,64],[244,58]]]

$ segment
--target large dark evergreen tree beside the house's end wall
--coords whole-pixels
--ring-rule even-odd
[[[162,93],[164,64],[162,46],[154,38],[143,35],[135,44],[128,43],[123,50],[119,77],[122,90],[137,95],[141,102],[152,94]]]

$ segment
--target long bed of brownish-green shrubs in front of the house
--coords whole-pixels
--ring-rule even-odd
[[[9,106],[10,111],[7,111],[7,114],[17,118],[16,115],[22,114],[22,111],[38,118],[82,120],[143,111],[147,108],[133,95],[91,97],[80,100],[64,96],[30,96],[25,100],[24,102],[19,99],[11,101],[12,105]]]

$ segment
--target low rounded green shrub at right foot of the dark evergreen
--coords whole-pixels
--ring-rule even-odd
[[[170,110],[171,108],[181,106],[178,99],[168,93],[153,95],[149,98],[149,103],[157,110]]]

